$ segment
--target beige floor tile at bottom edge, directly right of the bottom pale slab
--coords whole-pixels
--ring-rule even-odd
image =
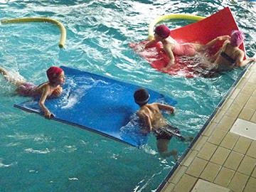
[[[236,172],[233,176],[228,188],[235,192],[242,192],[242,189],[245,187],[245,184],[248,181],[249,176],[246,176],[245,174],[241,174],[239,172]]]

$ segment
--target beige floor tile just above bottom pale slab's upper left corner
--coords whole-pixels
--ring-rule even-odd
[[[186,170],[186,174],[195,177],[200,176],[207,163],[208,161],[196,157],[191,163],[191,166]]]

